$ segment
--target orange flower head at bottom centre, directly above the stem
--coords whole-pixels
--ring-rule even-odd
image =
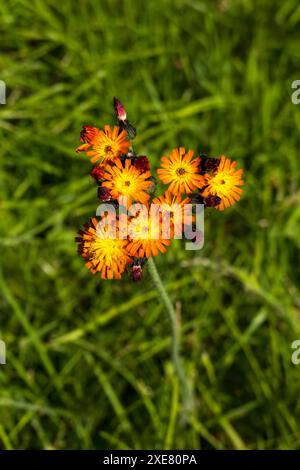
[[[138,206],[138,205],[136,205]],[[128,253],[135,258],[150,258],[165,253],[171,240],[163,238],[162,224],[154,224],[145,207],[136,211],[128,226]]]

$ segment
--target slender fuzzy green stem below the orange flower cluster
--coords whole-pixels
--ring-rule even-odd
[[[184,412],[190,412],[193,409],[193,397],[185,375],[180,357],[180,325],[176,318],[176,312],[170,297],[165,289],[161,277],[157,271],[153,257],[148,259],[147,266],[152,277],[153,283],[158,291],[159,298],[168,313],[172,328],[172,361],[174,370],[182,387],[182,399]]]

